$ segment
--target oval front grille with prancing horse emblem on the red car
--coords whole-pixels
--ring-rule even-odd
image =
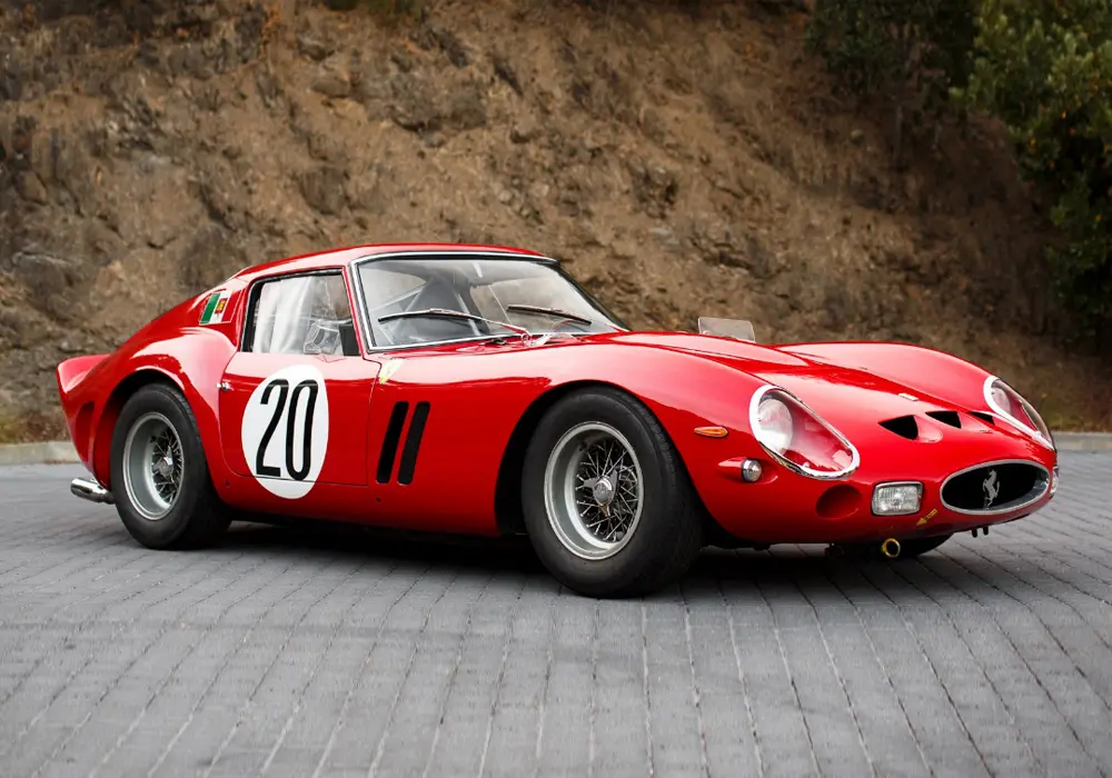
[[[1050,473],[1034,462],[990,462],[956,472],[942,485],[942,502],[962,513],[1004,513],[1042,498]]]

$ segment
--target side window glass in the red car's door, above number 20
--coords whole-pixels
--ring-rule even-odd
[[[245,351],[359,356],[339,272],[264,281],[251,290],[250,305]]]

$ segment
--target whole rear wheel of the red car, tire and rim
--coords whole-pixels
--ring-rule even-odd
[[[116,509],[148,548],[207,546],[228,527],[186,398],[162,383],[123,405],[112,435]]]

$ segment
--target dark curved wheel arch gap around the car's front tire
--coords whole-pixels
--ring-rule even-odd
[[[691,481],[691,472],[687,470],[687,462],[684,461],[679,447],[676,446],[675,441],[672,439],[672,435],[668,431],[667,426],[643,398],[613,381],[599,379],[568,381],[548,389],[534,399],[533,402],[529,403],[528,408],[525,409],[525,412],[522,413],[517,425],[514,427],[514,431],[510,433],[509,441],[503,451],[502,461],[498,466],[498,479],[495,486],[495,521],[499,533],[525,533],[525,519],[522,505],[522,472],[525,468],[525,452],[528,449],[529,441],[533,439],[533,435],[536,431],[537,426],[540,423],[540,420],[553,408],[553,406],[568,395],[584,389],[608,389],[612,391],[618,391],[639,402],[645,410],[648,411],[654,419],[656,419],[657,423],[661,425],[661,428],[664,430],[665,438],[667,438],[673,451],[675,451],[681,467],[684,468],[685,477],[687,477],[688,481]],[[698,495],[698,490],[694,489],[694,486],[693,491],[695,493],[698,511],[703,517],[704,522],[714,522],[714,519],[703,505],[703,499]]]

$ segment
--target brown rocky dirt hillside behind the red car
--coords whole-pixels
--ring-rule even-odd
[[[395,240],[552,252],[638,326],[942,348],[1112,425],[999,134],[897,169],[802,2],[2,2],[0,435],[57,433],[58,360],[245,265]]]

